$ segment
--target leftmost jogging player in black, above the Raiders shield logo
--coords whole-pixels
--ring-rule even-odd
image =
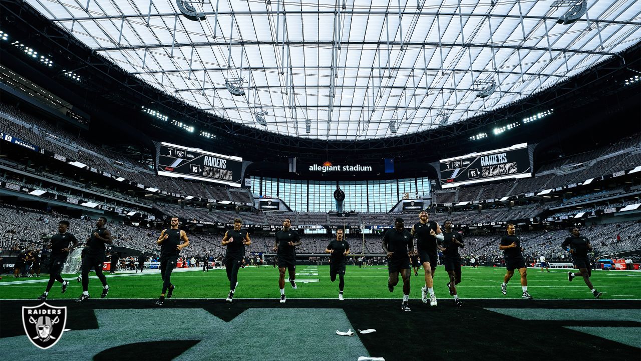
[[[58,222],[58,233],[51,236],[51,242],[47,245],[48,249],[51,249],[51,255],[49,256],[49,282],[47,283],[47,288],[44,291],[44,294],[40,295],[38,299],[44,301],[49,295],[49,291],[53,286],[55,281],[62,283],[62,292],[61,294],[67,291],[67,286],[69,286],[69,281],[65,281],[60,276],[60,270],[62,269],[69,251],[78,247],[78,240],[76,236],[67,232],[69,228],[69,221],[61,220]],[[69,247],[69,242],[72,243]]]

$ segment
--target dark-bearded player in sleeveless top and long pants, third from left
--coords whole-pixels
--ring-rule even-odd
[[[182,229],[178,229],[178,217],[171,217],[171,228],[163,229],[156,240],[156,244],[160,245],[160,277],[162,277],[162,293],[160,298],[156,301],[158,306],[162,306],[165,302],[165,292],[167,298],[171,298],[174,294],[176,286],[171,283],[171,271],[176,267],[180,251],[189,246],[189,238],[187,233]]]

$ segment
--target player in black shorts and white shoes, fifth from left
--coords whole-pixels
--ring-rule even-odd
[[[301,245],[301,236],[298,232],[290,229],[292,221],[285,218],[283,229],[276,232],[274,249],[278,257],[278,288],[281,291],[280,303],[285,303],[285,269],[289,273],[289,283],[296,290],[296,246]]]

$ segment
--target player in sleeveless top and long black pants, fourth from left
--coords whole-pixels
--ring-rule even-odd
[[[241,231],[242,220],[236,218],[234,220],[234,229],[225,232],[222,238],[222,245],[227,247],[225,251],[225,270],[227,271],[227,279],[229,279],[229,295],[226,301],[231,302],[236,292],[238,285],[238,269],[242,264],[242,258],[245,256],[245,246],[251,244],[249,233]]]

